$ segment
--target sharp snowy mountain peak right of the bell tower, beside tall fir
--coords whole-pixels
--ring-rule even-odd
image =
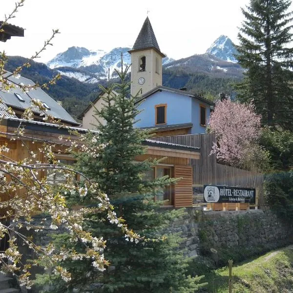
[[[217,58],[228,62],[237,63],[234,54],[237,54],[232,41],[224,35],[221,35],[215,42],[211,44],[206,53],[215,55]]]

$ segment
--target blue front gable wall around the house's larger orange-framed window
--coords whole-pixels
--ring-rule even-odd
[[[167,104],[167,125],[191,123],[191,98],[171,92],[156,92],[138,106],[145,109],[138,114],[136,127],[155,126],[155,105]]]

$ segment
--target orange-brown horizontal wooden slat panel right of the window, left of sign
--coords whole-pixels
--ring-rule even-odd
[[[192,167],[175,165],[174,177],[182,177],[174,187],[174,207],[192,207]]]

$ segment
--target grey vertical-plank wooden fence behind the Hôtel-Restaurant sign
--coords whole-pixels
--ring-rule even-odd
[[[211,148],[215,142],[214,133],[155,137],[152,139],[172,144],[200,147],[200,159],[191,160],[194,185],[214,184],[247,188],[261,188],[263,185],[262,174],[217,163],[216,155],[210,155]]]

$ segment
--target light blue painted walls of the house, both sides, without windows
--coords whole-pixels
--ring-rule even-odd
[[[165,126],[192,123],[189,134],[206,132],[206,127],[200,125],[200,105],[206,107],[206,124],[210,115],[210,105],[192,95],[164,90],[156,91],[147,96],[137,106],[139,110],[143,111],[137,115],[136,118],[139,121],[135,126],[140,128],[156,127],[155,106],[160,104],[167,104],[167,123]]]

